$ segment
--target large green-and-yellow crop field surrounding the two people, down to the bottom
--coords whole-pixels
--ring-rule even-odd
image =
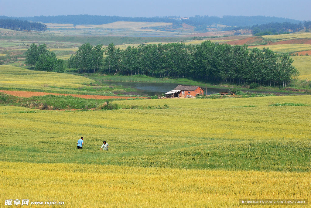
[[[285,102],[305,105],[270,106]],[[310,96],[114,103],[145,108],[65,112],[0,106],[0,200],[232,207],[243,198],[311,194]],[[83,149],[77,150],[81,136]],[[103,140],[108,151],[99,151]]]

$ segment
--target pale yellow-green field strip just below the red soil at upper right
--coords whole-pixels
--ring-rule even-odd
[[[311,45],[309,44],[277,44],[277,45],[264,45],[264,46],[249,46],[248,48],[269,48],[276,53],[295,53],[299,51],[311,50]]]

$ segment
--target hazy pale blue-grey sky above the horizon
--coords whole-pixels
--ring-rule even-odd
[[[0,15],[276,16],[311,20],[311,0],[0,0]]]

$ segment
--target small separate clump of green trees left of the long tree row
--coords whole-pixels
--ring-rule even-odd
[[[59,72],[63,73],[64,62],[57,59],[56,54],[46,49],[45,44],[31,44],[26,52],[26,66],[31,66],[37,71]]]

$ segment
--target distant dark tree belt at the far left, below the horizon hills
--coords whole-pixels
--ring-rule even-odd
[[[46,25],[38,22],[29,22],[26,20],[0,19],[0,28],[19,30],[19,31],[46,31]]]

